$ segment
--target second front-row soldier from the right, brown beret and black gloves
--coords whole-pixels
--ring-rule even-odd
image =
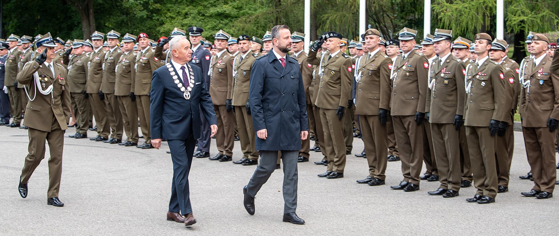
[[[495,166],[495,135],[503,133],[510,119],[510,106],[506,103],[503,67],[487,56],[491,49],[491,36],[476,34],[474,63],[466,67],[468,84],[464,119],[468,150],[476,195],[468,202],[488,204],[497,196],[497,167]],[[504,121],[504,122],[501,122]],[[489,127],[489,129],[487,129]]]

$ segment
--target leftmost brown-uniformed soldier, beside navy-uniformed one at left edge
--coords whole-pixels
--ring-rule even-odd
[[[17,48],[17,41],[20,40],[20,36],[11,34],[8,36],[8,45],[10,50],[8,51],[8,58],[6,59],[6,64],[4,68],[6,69],[6,75],[4,77],[4,87],[7,87],[8,97],[10,97],[10,114],[12,114],[13,120],[10,124],[6,124],[8,127],[20,127],[21,115],[22,115],[22,104],[21,104],[21,93],[25,93],[22,89],[18,88],[16,77],[19,73],[19,63],[21,58],[21,50]]]

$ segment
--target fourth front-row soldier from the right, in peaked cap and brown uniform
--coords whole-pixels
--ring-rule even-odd
[[[390,188],[411,192],[419,190],[423,164],[423,119],[429,63],[425,55],[414,49],[416,30],[404,27],[398,35],[402,54],[392,68],[390,110],[404,180]]]

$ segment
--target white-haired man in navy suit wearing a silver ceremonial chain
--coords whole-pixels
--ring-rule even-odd
[[[190,226],[196,219],[190,205],[188,173],[196,139],[200,138],[200,113],[211,125],[211,136],[217,131],[217,120],[210,93],[203,83],[202,70],[187,64],[192,58],[190,42],[185,36],[173,37],[169,50],[172,60],[155,70],[151,78],[151,144],[159,149],[161,139],[167,139],[173,160],[167,220]]]

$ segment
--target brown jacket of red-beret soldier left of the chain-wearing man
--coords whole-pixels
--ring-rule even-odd
[[[151,75],[159,67],[162,62],[153,55],[153,49],[148,46],[144,52],[140,50],[136,55],[136,81],[134,82],[134,93],[136,95],[149,95],[151,90]]]

